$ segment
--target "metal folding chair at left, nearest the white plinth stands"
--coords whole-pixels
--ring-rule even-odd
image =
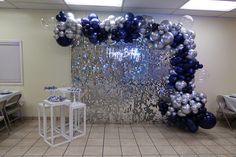
[[[19,103],[20,98],[21,94],[14,95],[7,101],[5,107],[3,108],[9,128],[11,128],[11,123],[16,121],[17,119],[23,120],[22,107]]]

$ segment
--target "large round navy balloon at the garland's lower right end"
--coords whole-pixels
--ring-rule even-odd
[[[205,112],[203,118],[199,121],[199,126],[204,129],[211,129],[216,125],[216,117],[211,112]]]

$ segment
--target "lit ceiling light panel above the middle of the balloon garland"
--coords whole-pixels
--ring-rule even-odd
[[[121,7],[123,0],[65,0],[70,5],[92,5]]]

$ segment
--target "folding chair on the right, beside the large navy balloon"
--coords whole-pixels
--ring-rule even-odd
[[[217,110],[217,117],[223,116],[229,126],[232,129],[233,120],[236,118],[236,112],[227,108],[225,99],[222,95],[218,95],[216,98],[219,108]],[[231,121],[230,121],[231,120]]]

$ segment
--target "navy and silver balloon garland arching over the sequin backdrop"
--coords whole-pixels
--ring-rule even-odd
[[[146,42],[149,47],[172,52],[171,70],[166,83],[174,90],[168,98],[159,100],[159,111],[168,124],[196,132],[198,127],[215,126],[215,116],[207,112],[207,96],[194,90],[194,74],[203,68],[197,61],[195,33],[186,30],[181,23],[164,20],[156,23],[150,16],[110,15],[104,21],[91,13],[75,19],[72,13],[60,11],[56,15],[54,38],[60,46],[75,46],[81,37],[94,45],[110,45],[118,42]]]

